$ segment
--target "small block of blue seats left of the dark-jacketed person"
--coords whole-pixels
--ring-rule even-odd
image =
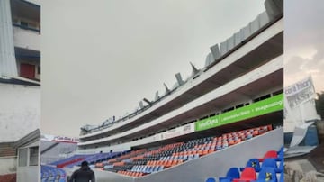
[[[61,168],[40,166],[41,182],[66,182],[67,173]]]

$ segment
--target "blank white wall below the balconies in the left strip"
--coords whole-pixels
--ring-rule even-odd
[[[0,142],[21,139],[40,128],[40,86],[0,83]]]

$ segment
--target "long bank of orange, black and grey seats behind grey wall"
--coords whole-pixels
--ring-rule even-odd
[[[102,168],[103,170],[113,172],[139,172],[143,173],[142,175],[147,175],[191,159],[198,159],[217,150],[226,149],[231,145],[249,140],[270,130],[272,130],[272,126],[266,125],[244,131],[225,133],[215,137],[178,142],[158,149],[135,150],[119,158],[110,159],[108,162],[97,163],[95,168]],[[122,174],[132,173],[122,172]]]

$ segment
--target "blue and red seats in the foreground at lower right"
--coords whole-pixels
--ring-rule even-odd
[[[206,182],[215,181],[213,177],[206,180]],[[249,159],[245,168],[229,168],[226,177],[220,177],[219,181],[284,182],[284,147],[278,151],[267,151],[261,159]]]

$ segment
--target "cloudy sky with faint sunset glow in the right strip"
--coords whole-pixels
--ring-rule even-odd
[[[284,84],[311,75],[324,91],[324,1],[284,1]]]

